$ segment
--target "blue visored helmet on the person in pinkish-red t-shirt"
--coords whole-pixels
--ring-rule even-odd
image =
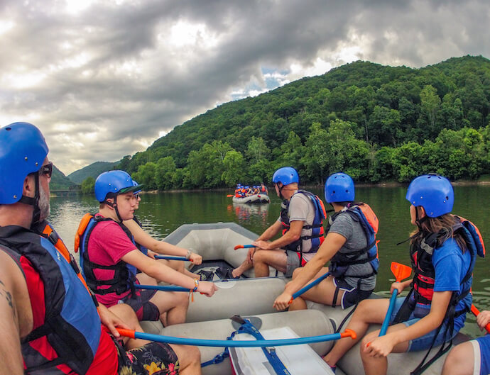
[[[102,203],[111,196],[138,191],[141,190],[141,187],[143,185],[135,185],[131,176],[124,171],[104,172],[99,174],[95,180],[95,198]],[[111,194],[111,196],[107,196],[107,194]]]

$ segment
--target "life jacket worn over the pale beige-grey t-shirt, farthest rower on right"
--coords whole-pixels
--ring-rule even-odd
[[[307,251],[308,254],[315,253],[322,245],[323,240],[325,240],[324,230],[323,230],[323,220],[327,218],[327,213],[325,212],[325,206],[323,206],[323,202],[320,198],[315,196],[315,194],[310,193],[310,191],[306,190],[298,190],[293,194],[303,194],[310,198],[310,201],[315,209],[315,218],[313,219],[312,225],[303,225],[303,230],[312,230],[311,235],[302,235],[295,242],[291,242],[287,246],[285,246],[285,250],[294,251],[300,253],[301,257],[303,257],[303,241],[310,241],[311,248]],[[283,235],[290,229],[290,222],[288,216],[289,204],[291,199],[283,201],[283,205],[281,206],[281,223],[283,225]]]

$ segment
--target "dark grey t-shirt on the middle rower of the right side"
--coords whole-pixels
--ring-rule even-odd
[[[339,235],[347,238],[344,246],[342,246],[339,250],[341,253],[347,254],[353,250],[361,250],[368,245],[366,234],[362,229],[361,223],[359,223],[359,221],[355,221],[352,216],[349,215],[349,213],[340,213],[332,223],[329,233],[330,232],[338,233]],[[364,253],[361,255],[361,257],[359,257],[359,259],[367,259],[367,257],[367,253]],[[349,274],[371,274],[371,272],[373,272],[373,267],[370,263],[353,264],[344,274],[345,281],[347,281],[347,283],[351,286],[357,286],[359,277],[349,277]],[[362,291],[370,291],[374,289],[374,286],[376,286],[376,275],[369,276],[367,279],[361,279]]]

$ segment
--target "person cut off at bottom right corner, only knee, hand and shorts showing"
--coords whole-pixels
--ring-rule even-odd
[[[490,323],[490,311],[477,316],[480,330]],[[463,342],[447,354],[441,375],[488,375],[490,374],[490,335]]]

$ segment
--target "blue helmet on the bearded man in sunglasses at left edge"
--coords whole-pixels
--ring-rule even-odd
[[[20,201],[24,179],[43,167],[48,151],[43,135],[31,123],[0,128],[0,204]]]

